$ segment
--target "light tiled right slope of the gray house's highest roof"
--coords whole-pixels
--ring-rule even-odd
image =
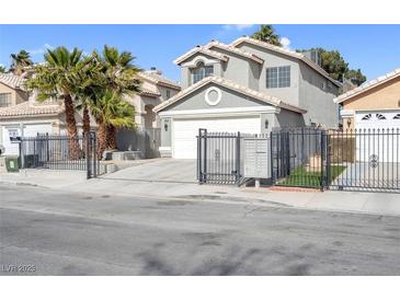
[[[262,48],[265,48],[265,49],[268,49],[268,50],[272,50],[272,51],[275,51],[275,53],[279,53],[282,55],[286,55],[286,56],[289,56],[289,57],[293,57],[293,58],[297,58],[297,59],[304,61],[305,64],[307,64],[309,67],[311,67],[317,72],[319,72],[321,76],[323,76],[324,78],[327,78],[328,80],[330,80],[336,86],[341,86],[341,83],[339,81],[336,81],[333,78],[331,78],[329,76],[329,73],[327,73],[320,66],[318,66],[316,62],[313,62],[312,60],[310,60],[304,54],[296,53],[296,51],[293,51],[293,50],[288,50],[288,49],[285,49],[283,47],[278,47],[278,46],[272,45],[270,43],[266,43],[266,42],[262,42],[260,39],[252,38],[250,36],[239,37],[239,38],[235,39],[230,45],[233,46],[233,47],[238,47],[242,43],[249,43],[249,44],[252,44],[252,45],[255,45],[255,46],[260,46]]]

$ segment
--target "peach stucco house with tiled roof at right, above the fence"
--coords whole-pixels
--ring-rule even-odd
[[[400,129],[400,69],[334,99],[344,129]]]

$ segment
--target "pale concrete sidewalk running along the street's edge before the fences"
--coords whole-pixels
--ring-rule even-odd
[[[118,172],[117,172],[118,173]],[[334,210],[400,216],[400,195],[359,192],[276,192],[267,188],[237,187],[230,185],[198,185],[187,181],[151,182],[117,173],[85,180],[85,172],[31,170],[16,174],[0,174],[0,182],[37,185],[68,192],[107,194],[111,196],[144,196],[178,198],[182,200],[209,200],[274,207],[293,207],[316,210]]]

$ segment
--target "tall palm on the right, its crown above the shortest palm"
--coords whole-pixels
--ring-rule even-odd
[[[93,53],[93,57],[102,66],[102,85],[113,91],[122,102],[125,103],[123,101],[125,96],[140,92],[141,82],[137,78],[140,69],[133,64],[135,57],[132,53],[119,53],[117,48],[105,45],[102,55]],[[121,126],[117,126],[116,123],[108,123],[105,136],[99,134],[99,143],[105,145],[105,149],[116,148],[116,127]],[[101,140],[102,138],[105,140]]]

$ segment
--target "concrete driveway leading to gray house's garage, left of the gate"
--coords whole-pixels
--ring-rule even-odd
[[[196,183],[196,160],[144,160],[106,177],[138,182]]]

